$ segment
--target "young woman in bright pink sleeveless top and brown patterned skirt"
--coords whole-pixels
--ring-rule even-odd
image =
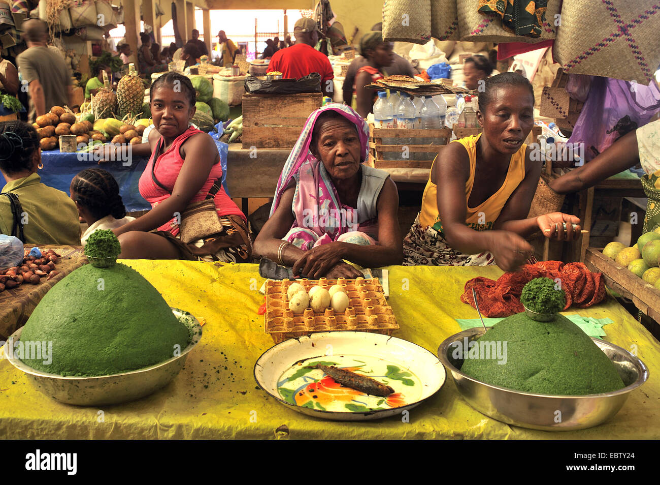
[[[151,116],[156,130],[149,143],[151,158],[140,177],[140,194],[152,210],[114,229],[124,259],[185,259],[251,262],[247,219],[220,185],[222,168],[215,142],[189,126],[195,114],[195,89],[190,80],[168,73],[151,85]],[[214,195],[215,194],[215,195]],[[183,242],[179,223],[185,208],[213,196],[222,231]],[[154,232],[154,229],[158,229]]]

